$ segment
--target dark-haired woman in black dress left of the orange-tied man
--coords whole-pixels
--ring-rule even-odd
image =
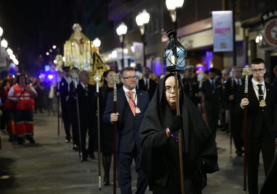
[[[100,120],[105,112],[108,93],[114,90],[114,84],[111,83],[111,76],[117,73],[109,70],[104,73],[104,84],[100,88]],[[113,128],[110,125],[101,123],[102,131],[102,164],[104,168],[104,185],[110,185],[110,168],[113,154]]]

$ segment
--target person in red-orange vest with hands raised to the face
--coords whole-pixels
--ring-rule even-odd
[[[36,90],[27,84],[27,80],[23,75],[17,77],[17,84],[13,85],[8,92],[7,99],[16,103],[14,122],[18,144],[23,144],[25,138],[30,143],[35,143],[33,137],[33,109],[35,104],[34,98],[37,96]]]

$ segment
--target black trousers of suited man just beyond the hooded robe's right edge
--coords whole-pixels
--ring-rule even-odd
[[[215,138],[217,126],[218,126],[219,109],[216,107],[212,107],[211,109],[205,109],[205,111],[206,111],[207,123]]]

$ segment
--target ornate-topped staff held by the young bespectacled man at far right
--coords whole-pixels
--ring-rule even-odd
[[[251,75],[251,69],[248,65],[242,69],[242,75],[245,76],[244,97],[248,98],[248,76]],[[247,193],[247,106],[244,107],[244,155],[243,155],[243,193]]]

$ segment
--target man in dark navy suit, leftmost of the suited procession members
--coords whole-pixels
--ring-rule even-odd
[[[70,127],[72,124],[71,120],[71,101],[70,96],[73,89],[72,78],[69,73],[70,67],[63,67],[64,77],[58,83],[56,95],[61,99],[61,108],[62,108],[62,118],[64,122],[65,134],[66,134],[66,143],[69,143],[71,140]],[[58,99],[59,100],[59,99]]]

